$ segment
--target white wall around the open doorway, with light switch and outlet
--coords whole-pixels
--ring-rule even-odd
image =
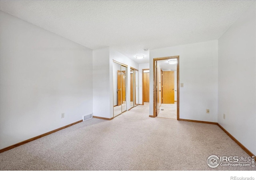
[[[218,40],[150,50],[150,115],[153,115],[153,58],[180,56],[180,118],[217,122]],[[210,113],[206,114],[206,109]]]

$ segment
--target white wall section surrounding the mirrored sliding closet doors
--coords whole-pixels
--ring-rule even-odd
[[[120,62],[122,64],[126,64],[128,66],[127,72],[130,72],[130,67],[138,69],[139,65],[131,60],[130,58],[124,56],[120,52],[116,51],[114,48],[110,48],[110,57],[109,57],[109,64],[110,64],[110,112],[112,113],[113,117],[113,60]],[[126,100],[127,100],[127,110],[130,109],[130,76],[127,76],[127,83],[126,83]]]

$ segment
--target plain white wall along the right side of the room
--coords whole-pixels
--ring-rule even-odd
[[[256,154],[255,2],[220,37],[218,52],[218,123]]]

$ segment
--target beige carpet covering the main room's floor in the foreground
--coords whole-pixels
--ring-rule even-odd
[[[144,105],[3,152],[0,170],[255,170],[210,168],[212,154],[248,157],[217,125],[149,118]]]

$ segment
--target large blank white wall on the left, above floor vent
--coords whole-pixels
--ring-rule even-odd
[[[0,149],[92,112],[92,50],[2,11],[0,22]]]

